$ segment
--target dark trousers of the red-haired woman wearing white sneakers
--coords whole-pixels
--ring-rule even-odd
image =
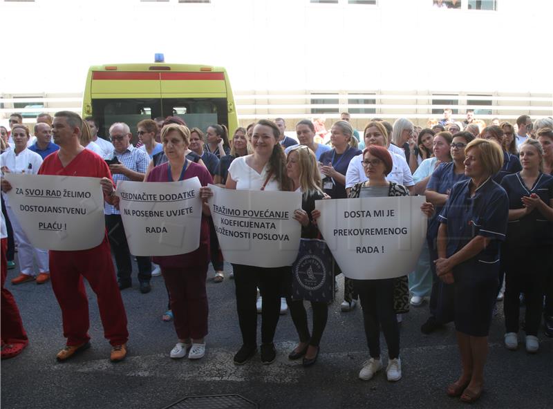
[[[400,356],[400,325],[393,307],[394,278],[382,280],[353,280],[363,307],[363,322],[368,352],[380,356],[380,327],[388,345],[388,357]]]

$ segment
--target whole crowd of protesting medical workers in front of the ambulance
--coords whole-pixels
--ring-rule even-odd
[[[525,304],[523,330],[527,352],[538,352],[538,332],[553,336],[553,118],[532,122],[521,115],[516,124],[493,120],[486,125],[467,112],[464,122],[429,121],[425,129],[407,118],[391,124],[374,118],[360,133],[350,115],[332,124],[295,124],[297,140],[285,135],[285,120],[259,120],[238,128],[232,139],[225,126],[205,133],[187,128],[180,117],[142,120],[133,132],[122,122],[109,126],[109,140],[98,137],[93,117],[82,120],[68,111],[37,118],[34,137],[21,115],[10,117],[10,131],[0,127],[3,173],[90,176],[100,178],[105,199],[106,235],[102,243],[82,251],[45,251],[32,247],[8,198],[2,200],[2,358],[19,354],[28,340],[15,301],[4,286],[6,270],[19,276],[12,285],[51,280],[62,309],[66,345],[57,354],[66,361],[90,346],[88,301],[82,277],[97,294],[104,335],[112,345],[111,361],[126,356],[126,314],[120,291],[132,285],[132,263],[115,186],[121,180],[172,182],[198,178],[203,216],[200,246],[178,256],[137,256],[140,292],[151,290],[160,271],[169,298],[167,321],[173,320],[178,342],[171,358],[205,355],[209,262],[212,280],[225,280],[223,254],[207,201],[207,184],[225,189],[299,191],[302,206],[294,212],[302,238],[321,238],[315,200],[425,196],[421,211],[429,218],[427,240],[413,272],[400,278],[346,278],[343,312],[362,306],[369,359],[359,378],[368,380],[383,368],[379,333],[388,345],[388,381],[402,377],[400,327],[409,304],[429,298],[429,317],[421,331],[430,334],[453,322],[461,357],[461,373],[447,394],[476,401],[484,384],[487,336],[504,298],[505,346],[518,348],[519,307]],[[53,138],[53,142],[51,139]],[[111,142],[110,142],[111,141]],[[325,143],[327,142],[327,143]],[[2,191],[13,187],[2,180]],[[115,259],[115,267],[112,261]],[[370,257],[370,256],[368,256]],[[368,259],[370,263],[370,259]],[[36,263],[38,272],[34,270]],[[313,365],[328,318],[327,303],[311,302],[312,330],[302,300],[291,297],[292,267],[263,268],[233,264],[238,327],[243,343],[234,355],[242,365],[256,354],[257,314],[261,313],[261,362],[277,356],[273,339],[279,316],[290,310],[299,341],[289,359]],[[116,272],[115,272],[116,270]],[[154,272],[153,272],[154,271]],[[339,274],[339,265],[335,274]],[[505,280],[505,282],[504,282]],[[398,287],[410,298],[398,302]],[[4,324],[4,316],[9,324]],[[6,321],[6,322],[8,322]]]

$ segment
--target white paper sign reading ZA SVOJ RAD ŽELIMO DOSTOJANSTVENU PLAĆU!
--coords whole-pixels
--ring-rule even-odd
[[[98,178],[6,173],[10,207],[31,244],[48,250],[85,250],[106,234]]]

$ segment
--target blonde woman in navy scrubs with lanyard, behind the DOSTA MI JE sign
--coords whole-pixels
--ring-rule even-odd
[[[319,157],[324,193],[332,199],[348,197],[345,186],[348,165],[355,156],[361,155],[359,149],[350,146],[352,138],[353,128],[349,122],[335,122],[330,129],[330,142],[334,147]]]

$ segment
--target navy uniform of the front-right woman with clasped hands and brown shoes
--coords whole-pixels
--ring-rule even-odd
[[[448,258],[476,236],[491,239],[476,256],[453,267],[456,330],[471,336],[487,336],[496,303],[500,242],[505,240],[507,231],[509,198],[491,178],[472,197],[471,186],[472,180],[453,186],[438,221],[447,225]]]

